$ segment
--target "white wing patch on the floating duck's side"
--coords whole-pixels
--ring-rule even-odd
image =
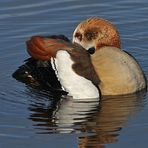
[[[67,51],[59,50],[55,61],[51,60],[52,66],[57,70],[58,79],[70,96],[74,99],[99,98],[99,91],[95,85],[73,71],[74,62]]]

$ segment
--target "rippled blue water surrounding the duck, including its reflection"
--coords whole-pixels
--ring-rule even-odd
[[[122,47],[148,77],[147,0],[0,1],[0,147],[147,148],[148,95],[61,99],[16,81],[12,73],[28,58],[25,41],[36,34],[65,34],[91,16],[113,22]]]

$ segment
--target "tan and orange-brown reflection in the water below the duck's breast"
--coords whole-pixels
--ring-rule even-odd
[[[93,129],[95,135],[79,137],[79,148],[104,148],[105,144],[117,142],[128,118],[143,108],[144,96],[144,91],[126,96],[104,96],[100,110],[86,125],[86,129]]]

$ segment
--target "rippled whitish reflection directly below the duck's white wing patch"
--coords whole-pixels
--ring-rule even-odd
[[[86,124],[94,116],[98,111],[98,105],[98,99],[84,101],[64,98],[55,113],[56,124],[59,127],[57,130],[62,133],[81,130],[79,126]]]

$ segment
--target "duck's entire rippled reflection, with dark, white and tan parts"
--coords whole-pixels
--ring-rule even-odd
[[[33,92],[31,90],[30,94]],[[40,94],[42,96],[42,94]],[[115,143],[130,116],[144,105],[145,92],[126,96],[104,96],[101,101],[77,101],[61,95],[41,99],[38,93],[30,100],[30,119],[38,133],[76,132],[79,148],[103,148]],[[40,99],[39,99],[40,98]]]

